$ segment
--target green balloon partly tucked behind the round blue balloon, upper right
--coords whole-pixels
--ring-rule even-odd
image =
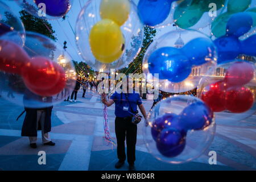
[[[212,34],[216,36],[216,38],[226,35],[226,24],[232,15],[232,13],[226,12],[217,16],[217,18],[213,20],[211,29]]]

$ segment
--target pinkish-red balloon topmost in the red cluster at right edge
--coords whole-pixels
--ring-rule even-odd
[[[236,62],[226,71],[224,81],[228,87],[243,86],[254,77],[254,65],[247,62]]]

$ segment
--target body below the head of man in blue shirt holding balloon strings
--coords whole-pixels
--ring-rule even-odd
[[[131,122],[136,114],[137,105],[143,114],[146,122],[146,111],[138,93],[117,93],[115,92],[108,101],[102,98],[102,102],[108,107],[115,103],[115,136],[117,137],[117,157],[119,161],[115,168],[121,168],[126,160],[125,137],[127,145],[127,162],[129,170],[134,171],[135,146],[137,142],[137,125]],[[146,122],[147,125],[147,122]]]

